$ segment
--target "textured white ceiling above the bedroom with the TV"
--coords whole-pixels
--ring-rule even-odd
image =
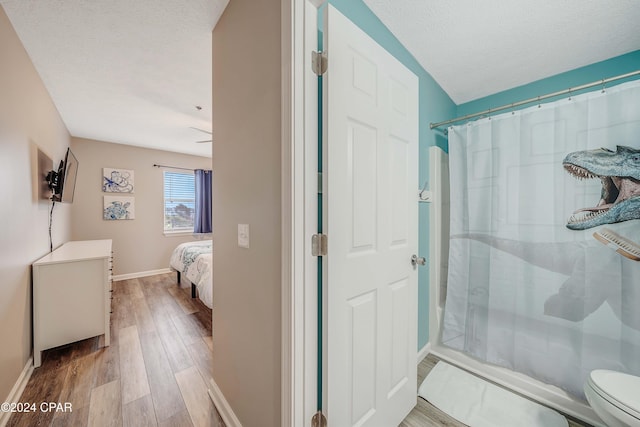
[[[211,130],[227,2],[0,0],[71,135],[209,157],[191,127]]]

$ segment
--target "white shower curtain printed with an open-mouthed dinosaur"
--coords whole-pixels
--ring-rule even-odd
[[[442,343],[584,398],[640,375],[640,82],[449,129]]]

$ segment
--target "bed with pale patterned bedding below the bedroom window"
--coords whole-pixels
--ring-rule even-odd
[[[182,277],[191,283],[191,296],[197,296],[209,308],[213,308],[213,241],[198,240],[181,243],[171,254],[169,265],[178,274],[178,285]]]

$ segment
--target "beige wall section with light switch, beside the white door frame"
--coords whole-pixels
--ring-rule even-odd
[[[229,2],[213,31],[213,377],[247,427],[281,425],[280,52],[280,0]]]

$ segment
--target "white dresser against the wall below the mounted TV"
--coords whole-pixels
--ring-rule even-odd
[[[43,350],[104,334],[110,343],[111,240],[68,242],[33,263],[33,366]]]

